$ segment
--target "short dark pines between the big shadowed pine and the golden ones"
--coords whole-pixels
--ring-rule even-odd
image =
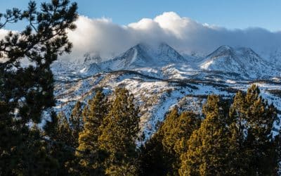
[[[48,134],[48,152],[58,160],[58,175],[77,175],[79,173],[79,158],[75,156],[78,144],[78,130],[81,130],[81,103],[78,101],[72,110],[70,122],[63,112],[52,115],[47,122],[45,133]]]

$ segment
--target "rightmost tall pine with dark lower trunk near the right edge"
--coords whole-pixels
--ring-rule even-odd
[[[252,156],[249,169],[257,175],[275,175],[276,162],[271,155],[275,151],[272,130],[277,113],[275,107],[268,105],[259,93],[259,87],[253,84],[245,97],[248,127],[245,145]]]

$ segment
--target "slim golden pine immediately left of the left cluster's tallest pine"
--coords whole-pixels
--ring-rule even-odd
[[[85,106],[83,111],[84,130],[79,133],[79,146],[77,156],[86,175],[104,175],[103,162],[105,154],[100,150],[98,137],[100,125],[107,115],[107,99],[100,90]]]

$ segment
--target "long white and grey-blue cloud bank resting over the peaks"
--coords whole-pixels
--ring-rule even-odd
[[[108,18],[91,19],[81,15],[77,30],[69,32],[74,44],[67,59],[81,59],[84,54],[112,58],[138,43],[166,42],[185,54],[205,55],[221,45],[246,46],[261,56],[268,56],[281,46],[281,32],[259,27],[229,30],[225,27],[197,23],[175,12],[164,12],[155,18],[117,25]],[[1,31],[0,31],[1,37]]]

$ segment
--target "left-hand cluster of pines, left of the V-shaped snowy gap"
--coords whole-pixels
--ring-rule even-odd
[[[53,115],[45,127],[48,149],[58,159],[58,175],[135,175],[138,172],[138,108],[128,90],[115,89],[108,100],[97,91],[81,109],[78,101],[69,118]]]

